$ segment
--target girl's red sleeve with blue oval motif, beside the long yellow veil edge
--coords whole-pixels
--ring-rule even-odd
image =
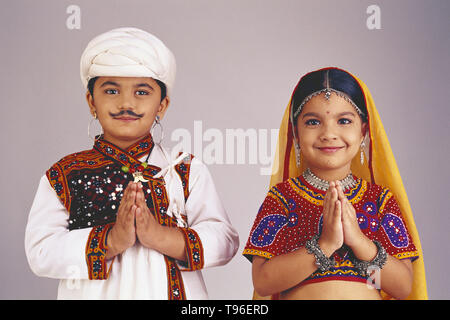
[[[378,241],[389,255],[397,259],[416,260],[419,253],[403,220],[397,201],[387,189],[381,197],[379,199],[381,226],[378,229]]]

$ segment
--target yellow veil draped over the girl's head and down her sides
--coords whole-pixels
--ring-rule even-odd
[[[352,76],[357,80],[364,93],[369,124],[369,142],[366,142],[366,157],[364,159],[364,164],[361,165],[359,156],[356,156],[351,164],[352,173],[366,181],[388,187],[394,194],[403,214],[403,219],[405,220],[409,233],[413,239],[417,251],[419,252],[418,259],[413,262],[413,287],[411,294],[407,299],[428,299],[422,246],[420,244],[419,234],[414,223],[413,214],[397,163],[369,89],[360,79],[354,75]],[[299,176],[306,169],[304,167],[304,161],[301,161],[300,167],[297,167],[296,163],[292,123],[290,121],[291,101],[292,96],[281,121],[276,153],[272,167],[272,175],[270,178],[270,188],[286,179]],[[381,293],[383,299],[391,298],[383,291]],[[259,296],[256,291],[254,291],[253,298],[270,299],[270,297]]]

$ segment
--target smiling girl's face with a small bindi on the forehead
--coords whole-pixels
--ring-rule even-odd
[[[325,93],[308,101],[297,118],[297,137],[306,165],[319,177],[343,179],[363,141],[366,124],[342,97]]]

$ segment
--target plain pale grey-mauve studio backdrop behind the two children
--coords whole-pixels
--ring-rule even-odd
[[[66,8],[81,8],[81,29]],[[366,9],[381,9],[381,29]],[[448,299],[450,2],[433,1],[1,1],[0,298],[54,299],[36,277],[24,228],[39,178],[62,156],[88,149],[90,116],[79,58],[97,34],[120,26],[154,33],[174,52],[177,80],[164,119],[170,133],[278,128],[304,73],[338,66],[361,78],[381,114],[422,240],[431,299]],[[206,143],[204,143],[204,146]],[[260,165],[209,166],[237,228],[239,253],[205,270],[213,299],[250,299],[241,255],[268,188]],[[446,204],[447,203],[447,204]]]

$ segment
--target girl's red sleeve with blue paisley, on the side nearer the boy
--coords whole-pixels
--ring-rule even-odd
[[[284,254],[287,201],[276,186],[272,187],[258,210],[243,255],[251,261],[253,256],[270,259]]]

